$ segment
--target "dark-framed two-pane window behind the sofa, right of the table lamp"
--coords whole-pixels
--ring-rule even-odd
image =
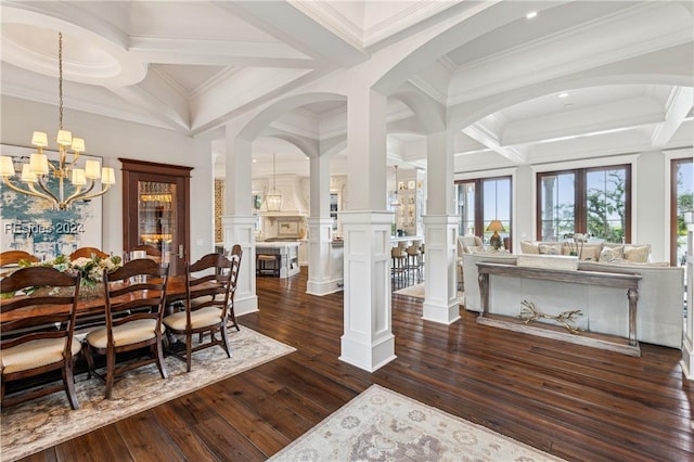
[[[538,239],[588,233],[607,242],[631,239],[631,166],[538,174]]]

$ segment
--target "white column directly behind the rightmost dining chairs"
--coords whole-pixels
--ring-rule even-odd
[[[236,131],[227,126],[224,180],[224,215],[221,219],[224,251],[240,244],[243,249],[239,273],[234,311],[245,315],[258,311],[256,295],[256,218],[250,210],[252,151],[250,142],[236,138]],[[194,223],[193,223],[194,226]]]

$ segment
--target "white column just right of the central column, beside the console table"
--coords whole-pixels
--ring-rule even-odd
[[[457,294],[455,207],[452,139],[446,131],[427,136],[426,265],[422,318],[450,324],[460,319]]]

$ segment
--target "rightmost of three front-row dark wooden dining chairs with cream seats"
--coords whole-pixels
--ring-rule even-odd
[[[231,319],[231,325],[239,330],[233,299],[242,253],[236,244],[230,257],[213,253],[185,266],[184,310],[164,318],[164,324],[172,334],[185,336],[185,351],[172,348],[171,354],[185,362],[188,372],[191,371],[192,354],[204,348],[219,345],[231,358],[227,328]],[[198,344],[193,346],[195,334]],[[209,334],[209,342],[205,342],[205,334]]]

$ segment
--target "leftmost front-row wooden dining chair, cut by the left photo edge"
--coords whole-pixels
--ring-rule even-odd
[[[0,323],[0,402],[3,407],[64,389],[69,406],[79,408],[73,375],[75,358],[81,349],[81,344],[74,336],[79,282],[79,274],[69,275],[48,267],[20,268],[0,282],[3,294],[14,294],[0,299],[3,319],[26,311],[28,307],[36,311],[36,316],[16,317],[16,320]],[[31,296],[22,294],[38,283],[40,293],[35,292]],[[56,310],[56,307],[64,309]],[[5,397],[7,382],[59,369],[63,375],[62,385],[34,387]]]

